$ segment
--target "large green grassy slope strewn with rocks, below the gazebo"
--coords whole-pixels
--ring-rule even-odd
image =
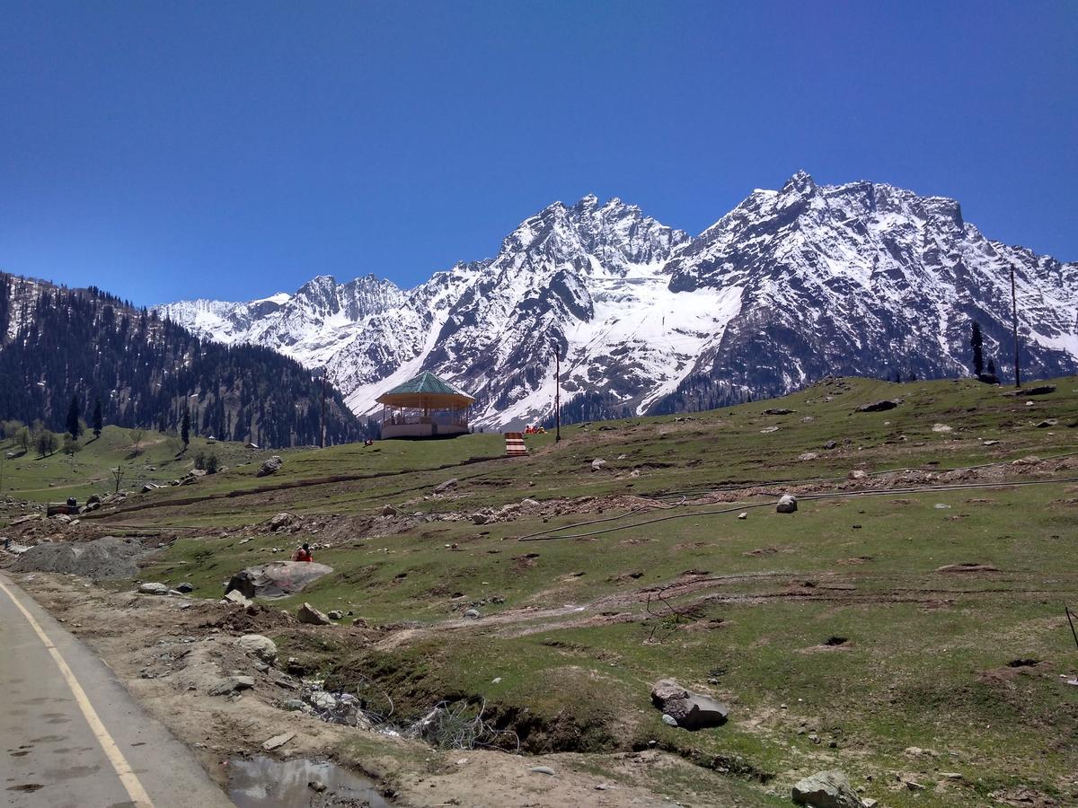
[[[293,451],[272,478],[230,462],[92,521],[184,534],[146,574],[205,597],[309,541],[335,572],[275,607],[372,628],[282,630],[282,654],[336,682],[372,677],[405,715],[484,697],[528,751],[654,741],[701,764],[699,782],[664,786],[689,803],[727,793],[715,771],[744,804],[777,805],[840,768],[894,807],[1018,804],[1023,789],[1075,804],[1078,687],[1060,674],[1078,668],[1063,613],[1078,607],[1078,377],[1053,384],[1015,398],[832,379],[571,427],[519,460],[497,457],[499,435]],[[857,412],[884,398],[901,403]],[[984,468],[948,471],[967,466]],[[799,510],[777,514],[787,490]],[[280,512],[292,527],[271,532]],[[730,722],[664,725],[649,701],[662,677],[728,700]]]

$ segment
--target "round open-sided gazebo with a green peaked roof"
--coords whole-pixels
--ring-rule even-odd
[[[382,437],[443,437],[468,432],[468,407],[475,399],[424,371],[384,392]]]

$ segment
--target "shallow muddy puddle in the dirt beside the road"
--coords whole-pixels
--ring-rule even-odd
[[[238,808],[390,808],[373,780],[334,763],[265,755],[229,762],[229,796]]]

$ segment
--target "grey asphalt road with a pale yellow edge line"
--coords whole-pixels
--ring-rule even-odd
[[[226,808],[183,743],[0,574],[0,805]]]

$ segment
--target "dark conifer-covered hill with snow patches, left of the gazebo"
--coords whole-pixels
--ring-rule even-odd
[[[178,429],[265,446],[316,444],[320,382],[258,346],[204,340],[96,288],[67,289],[0,273],[0,418],[63,430],[71,399],[89,421]],[[327,442],[364,428],[327,391]]]

